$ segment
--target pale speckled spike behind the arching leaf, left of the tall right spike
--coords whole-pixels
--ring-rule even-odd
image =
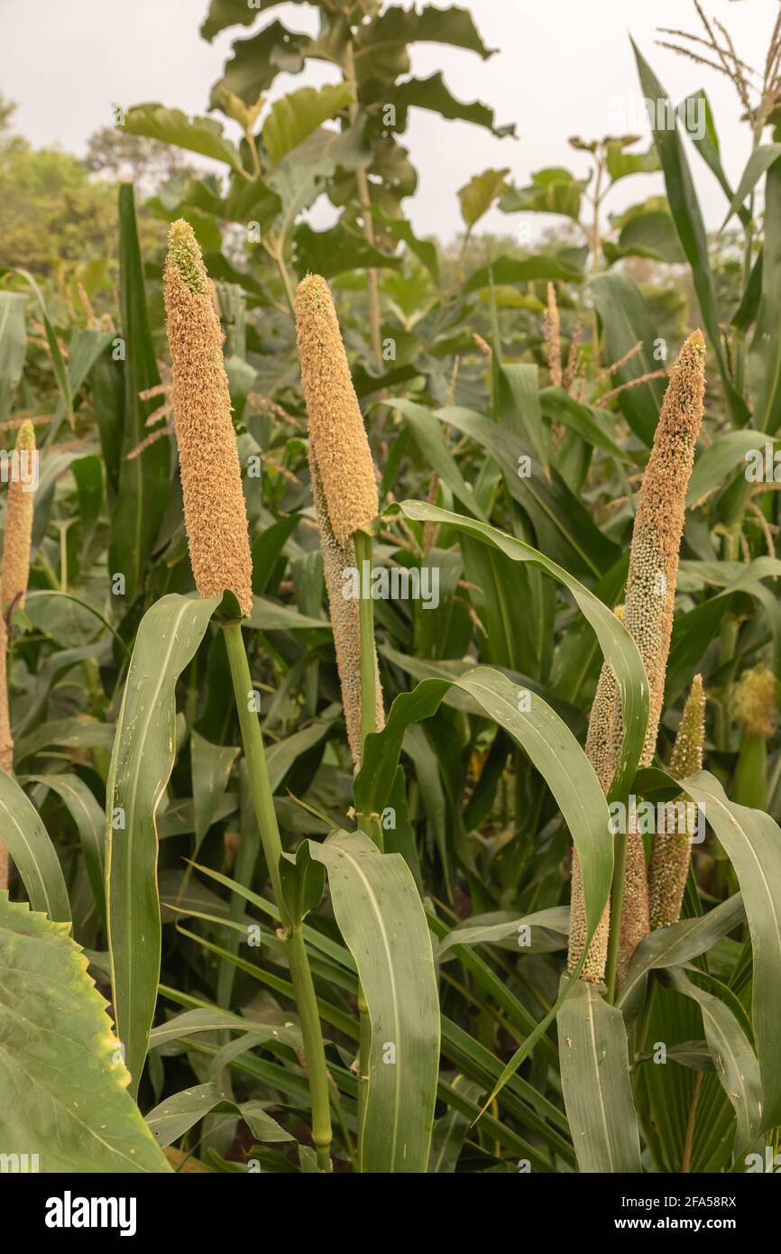
[[[623,617],[623,606],[613,611],[617,618]],[[592,714],[588,720],[585,737],[585,756],[597,772],[602,791],[607,795],[616,770],[613,721],[618,701],[616,676],[607,662],[602,663],[599,682],[594,693]],[[608,935],[611,929],[611,905],[605,905],[597,930],[592,937],[588,956],[580,972],[580,979],[588,983],[602,983],[608,957]],[[572,851],[572,905],[569,910],[569,954],[567,966],[574,971],[585,944],[585,898],[583,895],[583,873],[578,850]]]

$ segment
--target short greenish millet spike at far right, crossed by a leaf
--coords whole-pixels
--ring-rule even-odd
[[[705,690],[702,675],[696,675],[669,757],[669,774],[687,779],[702,770],[705,744]],[[683,796],[683,794],[681,794]],[[691,841],[695,833],[656,833],[651,851],[648,893],[651,898],[651,927],[666,928],[681,917],[681,903],[688,875]]]

